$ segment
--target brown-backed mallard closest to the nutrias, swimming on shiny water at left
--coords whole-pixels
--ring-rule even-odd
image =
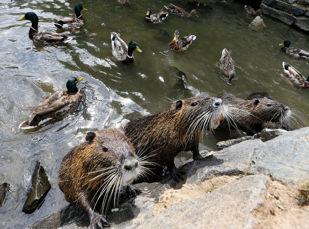
[[[83,97],[83,91],[76,87],[76,84],[84,79],[73,77],[66,82],[67,90],[56,91],[47,96],[43,101],[34,107],[25,107],[22,110],[33,110],[32,115],[19,125],[20,129],[31,129],[42,125],[51,119],[64,118],[77,108]]]

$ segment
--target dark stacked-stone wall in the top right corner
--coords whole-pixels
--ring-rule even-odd
[[[309,32],[309,0],[263,0],[262,13]]]

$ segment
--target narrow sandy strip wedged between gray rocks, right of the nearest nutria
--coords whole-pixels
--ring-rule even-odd
[[[218,176],[209,180],[203,181],[200,184],[183,184],[179,189],[169,189],[164,191],[160,196],[159,201],[154,205],[153,216],[158,215],[164,209],[170,208],[173,205],[182,203],[187,200],[194,200],[200,196],[206,195],[213,190],[242,178],[239,176]]]

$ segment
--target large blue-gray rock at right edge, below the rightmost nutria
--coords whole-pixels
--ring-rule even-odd
[[[308,177],[309,127],[287,131],[257,145],[249,174],[264,174],[273,180],[295,185]]]

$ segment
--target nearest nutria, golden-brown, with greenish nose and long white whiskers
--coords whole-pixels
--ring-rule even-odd
[[[147,173],[147,162],[135,155],[133,145],[119,129],[88,132],[86,142],[74,147],[62,159],[58,185],[66,200],[78,203],[87,212],[90,229],[109,226],[96,210],[100,197],[101,212],[116,192],[127,187],[129,198],[142,191],[130,185]],[[115,203],[115,199],[114,199]]]

